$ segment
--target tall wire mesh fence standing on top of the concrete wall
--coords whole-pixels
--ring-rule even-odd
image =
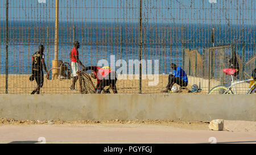
[[[197,84],[203,90],[198,94],[207,94],[216,85],[230,85],[222,69],[230,67],[234,53],[237,81],[250,78],[256,64],[254,0],[2,0],[0,6],[1,94],[28,94],[36,87],[29,77],[40,44],[51,69],[42,94],[81,93],[69,90],[68,70],[65,79],[58,78],[61,62],[71,63],[73,41],[80,42],[82,64],[108,62],[117,72],[118,93],[161,93],[174,63],[188,76],[181,93]],[[249,83],[236,87],[242,94]]]

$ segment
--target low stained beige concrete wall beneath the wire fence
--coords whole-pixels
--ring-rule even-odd
[[[0,95],[0,118],[30,120],[212,119],[256,121],[255,95]]]

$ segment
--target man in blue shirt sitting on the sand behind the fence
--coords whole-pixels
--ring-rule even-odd
[[[174,83],[177,83],[177,85],[181,87],[187,87],[188,85],[188,77],[185,71],[182,68],[177,67],[174,63],[171,64],[171,68],[174,69],[174,75],[169,75],[168,85],[166,86],[166,89],[162,91],[164,93],[167,93],[168,90],[172,88]]]

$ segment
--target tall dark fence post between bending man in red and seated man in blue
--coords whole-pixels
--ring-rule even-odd
[[[139,94],[141,94],[141,80],[142,80],[142,0],[139,1]]]

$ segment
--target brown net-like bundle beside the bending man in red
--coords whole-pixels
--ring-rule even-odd
[[[79,75],[80,82],[80,93],[81,94],[93,94],[95,92],[95,86],[93,85],[92,79],[88,73],[80,73]]]

